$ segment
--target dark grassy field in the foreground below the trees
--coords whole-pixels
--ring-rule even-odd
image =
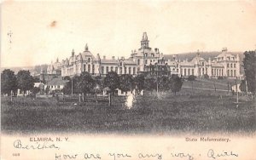
[[[113,97],[113,106],[106,102],[58,104],[53,99],[23,97],[10,102],[4,97],[2,129],[6,133],[255,133],[255,100],[242,99],[236,107],[236,96],[212,91],[187,93],[182,89],[176,96],[137,96],[131,109],[125,106],[125,97]]]

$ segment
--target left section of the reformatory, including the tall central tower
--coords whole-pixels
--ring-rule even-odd
[[[69,58],[61,62],[61,76],[79,75],[83,71],[88,71],[92,75],[104,76],[108,71],[116,71],[118,74],[132,74],[136,75],[139,72],[145,71],[145,67],[150,63],[158,62],[162,59],[163,54],[160,54],[159,49],[151,49],[148,46],[147,33],[143,33],[141,41],[141,48],[131,51],[131,57],[106,59],[106,56],[96,57],[90,53],[86,44],[84,52],[75,54],[74,50]]]

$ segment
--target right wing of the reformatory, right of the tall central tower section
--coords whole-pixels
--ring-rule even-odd
[[[205,60],[198,52],[192,60],[177,60],[177,55],[173,60],[168,60],[168,66],[171,67],[172,74],[178,74],[183,77],[194,75],[196,77],[229,77],[236,78],[240,75],[240,58],[228,53],[224,48],[221,54]]]

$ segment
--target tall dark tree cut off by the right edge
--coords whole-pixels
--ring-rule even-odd
[[[256,51],[246,51],[244,53],[243,68],[247,89],[255,94],[256,91]]]

